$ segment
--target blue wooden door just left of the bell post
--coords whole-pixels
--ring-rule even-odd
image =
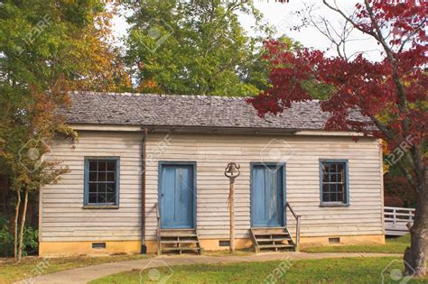
[[[195,188],[192,165],[162,165],[160,209],[163,228],[193,228]]]

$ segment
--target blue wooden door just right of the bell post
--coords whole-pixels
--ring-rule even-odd
[[[284,168],[254,165],[251,177],[252,226],[283,226]]]

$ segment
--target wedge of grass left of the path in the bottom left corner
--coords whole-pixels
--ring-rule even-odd
[[[113,256],[76,256],[67,258],[27,258],[16,263],[15,261],[0,262],[0,283],[11,283],[13,281],[38,275],[37,271],[47,274],[60,270],[70,270],[88,265],[101,264],[116,261],[131,261],[148,258],[150,255],[113,255]],[[39,270],[37,266],[39,265]]]

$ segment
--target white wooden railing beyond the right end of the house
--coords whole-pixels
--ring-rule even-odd
[[[404,235],[409,232],[407,224],[414,222],[414,208],[384,207],[385,234]]]

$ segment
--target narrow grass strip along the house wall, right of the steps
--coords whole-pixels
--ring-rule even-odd
[[[410,244],[410,234],[399,238],[386,239],[386,244],[381,245],[330,245],[302,247],[301,252],[390,252],[404,253]]]

